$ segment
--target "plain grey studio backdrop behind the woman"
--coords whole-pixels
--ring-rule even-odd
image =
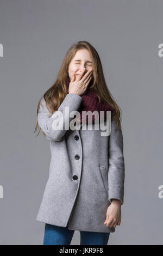
[[[36,107],[68,48],[89,41],[122,109],[126,178],[121,225],[108,245],[162,245],[162,1],[1,0],[0,244],[41,245],[35,221],[48,179],[49,142]],[[40,157],[41,156],[41,157]],[[74,232],[71,245],[80,242]]]

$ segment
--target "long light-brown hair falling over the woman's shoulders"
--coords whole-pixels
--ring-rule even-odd
[[[56,81],[54,82],[53,86],[49,88],[43,95],[43,98],[46,101],[46,105],[49,109],[49,112],[53,114],[55,111],[57,111],[62,101],[65,99],[65,96],[67,94],[66,78],[68,74],[68,66],[71,60],[73,59],[74,55],[76,54],[76,52],[81,49],[88,50],[92,58],[93,78],[91,81],[90,89],[96,93],[96,95],[98,96],[99,102],[103,100],[110,104],[110,106],[113,109],[113,111],[111,111],[111,120],[117,119],[118,128],[121,129],[121,112],[122,112],[121,108],[117,105],[113,96],[109,92],[108,87],[106,86],[103,69],[102,69],[102,63],[101,63],[101,59],[99,58],[98,52],[87,41],[78,41],[76,44],[73,44],[70,47],[61,64],[61,68],[58,72]],[[37,115],[39,113],[41,99],[39,100],[39,103],[37,105]],[[34,132],[36,132],[37,128],[38,128],[38,121],[36,120],[36,127]],[[40,130],[41,128],[39,129],[39,132]],[[39,135],[39,132],[37,133],[37,135]],[[44,132],[43,132],[43,135],[46,136]]]

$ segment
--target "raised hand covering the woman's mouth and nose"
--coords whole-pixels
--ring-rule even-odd
[[[71,80],[71,82],[69,84],[69,88],[68,88],[69,94],[75,93],[79,96],[82,96],[85,93],[87,86],[89,85],[89,82],[91,81],[91,78],[92,78],[92,70],[89,69],[86,72],[86,74],[83,76],[84,71],[85,71],[85,69],[83,69],[81,74],[78,75],[77,77],[75,76],[75,74],[73,74],[72,80]]]

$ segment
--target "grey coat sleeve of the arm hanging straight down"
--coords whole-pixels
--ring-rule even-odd
[[[122,130],[117,127],[117,120],[111,121],[109,136],[109,170],[108,170],[108,199],[118,199],[123,204],[124,197],[124,156]]]

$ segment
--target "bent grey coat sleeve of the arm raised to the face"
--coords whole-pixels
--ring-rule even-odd
[[[51,113],[48,111],[48,108],[46,106],[46,101],[42,97],[41,102],[40,102],[39,113],[37,115],[37,120],[38,120],[38,124],[39,124],[41,130],[43,132],[45,132],[46,138],[49,141],[60,141],[61,140],[61,138],[65,135],[65,133],[67,131],[64,129],[65,122],[66,123],[68,122],[68,124],[70,124],[70,121],[72,119],[74,119],[74,117],[70,118],[70,113],[72,111],[78,111],[78,108],[79,108],[81,102],[82,102],[81,96],[79,96],[77,94],[73,94],[73,93],[67,94],[64,101],[62,101],[60,107],[58,108],[58,111],[60,111],[62,113],[62,117],[61,117],[61,115],[58,114],[58,111],[54,112],[53,115],[51,117],[49,117],[49,115],[51,115]],[[69,107],[68,112],[65,112],[65,107]],[[52,127],[53,121],[56,118],[58,119],[59,124],[62,121],[63,129],[60,129],[60,130],[53,129],[53,127]]]

